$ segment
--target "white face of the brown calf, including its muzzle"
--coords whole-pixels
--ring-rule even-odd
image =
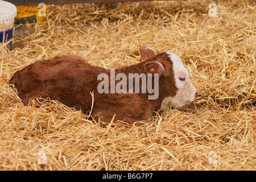
[[[182,107],[186,104],[191,104],[191,102],[196,100],[197,94],[197,90],[195,86],[191,84],[189,80],[189,73],[187,69],[185,69],[180,57],[171,52],[167,53],[173,63],[174,79],[177,93],[174,97],[164,98],[162,106],[160,108],[161,111],[171,106]]]

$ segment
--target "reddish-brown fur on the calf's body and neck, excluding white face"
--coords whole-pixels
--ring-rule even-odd
[[[143,54],[148,50],[145,51],[142,47],[140,51]],[[100,117],[101,121],[110,122],[116,114],[114,122],[124,120],[127,123],[134,123],[147,121],[154,111],[160,109],[165,97],[175,96],[177,88],[172,61],[166,52],[158,55],[152,55],[150,52],[141,63],[115,69],[115,75],[125,73],[128,77],[129,73],[147,73],[147,64],[154,61],[162,63],[165,69],[164,72],[159,72],[159,97],[156,100],[148,100],[148,93],[98,93],[97,86],[101,80],[97,80],[97,76],[106,73],[110,79],[110,69],[92,66],[82,57],[74,55],[59,56],[28,65],[17,71],[9,83],[18,90],[24,105],[28,105],[30,99],[34,97],[49,97],[86,113],[91,109],[93,93],[94,118]],[[158,71],[156,68],[156,72]]]

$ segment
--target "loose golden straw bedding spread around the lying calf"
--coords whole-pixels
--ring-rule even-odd
[[[255,170],[256,3],[216,1],[211,17],[211,2],[49,6],[47,21],[28,25],[13,51],[0,46],[0,169]],[[57,101],[24,106],[8,85],[16,71],[57,55],[135,64],[142,45],[179,55],[199,91],[152,124],[101,127]]]

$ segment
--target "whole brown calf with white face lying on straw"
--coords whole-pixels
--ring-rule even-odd
[[[170,52],[156,55],[147,46],[140,47],[139,53],[141,63],[115,70],[92,66],[80,56],[59,56],[28,65],[17,71],[9,83],[18,90],[24,105],[31,98],[49,97],[69,107],[91,111],[94,118],[107,123],[114,114],[114,122],[150,121],[154,111],[196,100],[197,90],[179,56]],[[139,77],[137,83],[130,80],[132,73],[135,80]],[[149,82],[145,83],[143,74]],[[152,90],[155,97],[150,98]]]

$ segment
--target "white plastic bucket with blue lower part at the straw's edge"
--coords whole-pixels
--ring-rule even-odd
[[[14,18],[17,15],[16,6],[10,2],[0,1],[0,42],[5,43],[13,39]],[[11,50],[11,42],[7,48]]]

